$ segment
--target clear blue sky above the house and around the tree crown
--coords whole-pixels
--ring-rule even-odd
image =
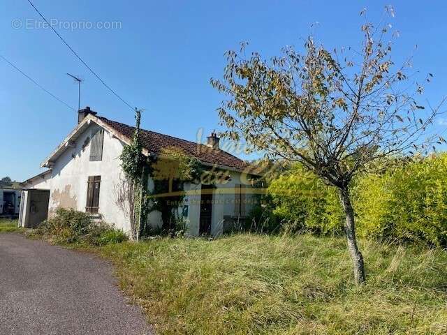
[[[34,0],[110,87],[131,105],[145,109],[142,127],[196,140],[198,128],[218,129],[215,109],[222,96],[210,86],[221,77],[223,53],[242,40],[265,57],[284,45],[302,45],[314,33],[325,45],[358,45],[362,18],[383,13],[388,1],[50,1]],[[444,1],[395,1],[393,27],[400,31],[396,59],[413,52],[415,68],[433,73],[425,98],[436,104],[447,93]],[[0,54],[43,87],[77,107],[77,86],[65,73],[79,75],[81,105],[133,124],[133,113],[75,59],[50,29],[38,27],[26,0],[0,1]],[[63,22],[119,22],[115,29],[66,29]],[[17,23],[18,22],[18,23]],[[76,23],[75,23],[76,24]],[[21,26],[21,27],[20,27]],[[18,28],[17,28],[18,27]],[[27,29],[28,28],[28,29]],[[31,29],[32,28],[32,29]],[[38,89],[0,59],[0,177],[24,180],[76,123],[76,114]],[[445,122],[444,122],[445,124]],[[446,127],[439,122],[439,131]]]

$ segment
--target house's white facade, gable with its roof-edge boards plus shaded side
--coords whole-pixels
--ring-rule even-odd
[[[91,161],[91,139],[100,128],[104,130],[102,159]],[[131,230],[129,215],[123,210],[120,203],[122,200],[119,199],[119,188],[124,182],[119,156],[126,142],[129,142],[129,138],[117,134],[93,115],[88,115],[52,153],[50,159],[43,163],[50,167],[50,171],[29,179],[24,187],[50,190],[49,215],[52,215],[58,207],[86,211],[87,181],[91,176],[100,176],[98,217],[115,225],[115,228],[129,232]],[[249,190],[247,177],[241,172],[229,169],[230,178],[222,183],[216,183],[211,190],[208,190],[211,195],[207,197],[207,201],[212,202],[210,232],[212,235],[219,235],[228,230],[229,225],[233,225],[238,218],[246,216],[251,207],[251,195],[238,193],[241,188],[242,193]],[[149,179],[149,190],[153,187],[154,182]],[[179,204],[179,216],[186,221],[189,234],[197,236],[202,233],[200,232],[201,206],[204,199],[201,194],[202,185],[189,183],[184,186],[184,191],[186,196],[183,203]],[[161,213],[158,211],[149,213],[147,220],[154,228],[162,225]]]

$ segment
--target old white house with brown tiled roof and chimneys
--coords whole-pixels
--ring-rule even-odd
[[[78,113],[78,126],[41,164],[49,170],[25,181],[24,188],[50,192],[50,215],[58,207],[87,211],[129,232],[130,218],[119,196],[125,180],[119,156],[124,145],[131,142],[135,128],[99,117],[89,107]],[[198,144],[141,130],[140,141],[146,156],[176,148],[198,158],[205,168],[227,174],[211,187],[184,185],[186,195],[178,209],[189,234],[221,234],[247,217],[254,201],[250,181],[253,173],[248,173],[249,165],[240,158],[219,149],[217,135],[207,137],[207,144]],[[149,190],[153,188],[154,181],[149,178]],[[159,211],[149,213],[147,220],[154,228],[163,224]]]

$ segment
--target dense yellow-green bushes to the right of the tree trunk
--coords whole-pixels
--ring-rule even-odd
[[[442,154],[363,177],[355,202],[359,234],[447,246],[446,176]]]

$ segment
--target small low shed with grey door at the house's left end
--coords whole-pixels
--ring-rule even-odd
[[[26,188],[22,191],[20,203],[19,226],[36,228],[48,217],[50,190]]]

